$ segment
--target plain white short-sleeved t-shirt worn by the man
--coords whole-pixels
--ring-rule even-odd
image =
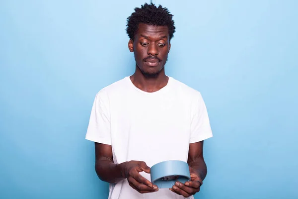
[[[114,163],[187,162],[189,144],[212,137],[200,92],[169,77],[159,91],[138,89],[129,77],[103,88],[91,110],[86,139],[112,145]],[[140,173],[150,181],[150,174]],[[169,189],[140,194],[127,179],[110,184],[109,199],[184,199]],[[190,197],[193,199],[193,197]]]

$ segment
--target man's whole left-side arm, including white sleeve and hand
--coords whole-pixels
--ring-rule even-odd
[[[129,185],[140,193],[157,191],[140,172],[150,173],[145,162],[129,161],[115,164],[111,146],[111,122],[109,99],[101,90],[93,102],[86,139],[95,143],[95,171],[99,179],[108,183],[118,183],[127,179]]]

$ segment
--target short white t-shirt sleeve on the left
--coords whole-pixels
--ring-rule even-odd
[[[110,129],[109,99],[101,90],[93,102],[85,139],[111,145]]]

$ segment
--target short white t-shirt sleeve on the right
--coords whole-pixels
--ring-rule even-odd
[[[190,143],[200,142],[213,136],[207,108],[201,93],[198,93],[194,101],[192,105]]]

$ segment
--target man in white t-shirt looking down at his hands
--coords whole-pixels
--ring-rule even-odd
[[[212,131],[204,100],[164,71],[172,16],[152,2],[135,8],[127,33],[136,71],[94,100],[86,139],[95,142],[95,170],[110,183],[109,199],[193,199],[206,177],[203,140]],[[158,190],[150,167],[165,160],[187,162],[191,181]]]

